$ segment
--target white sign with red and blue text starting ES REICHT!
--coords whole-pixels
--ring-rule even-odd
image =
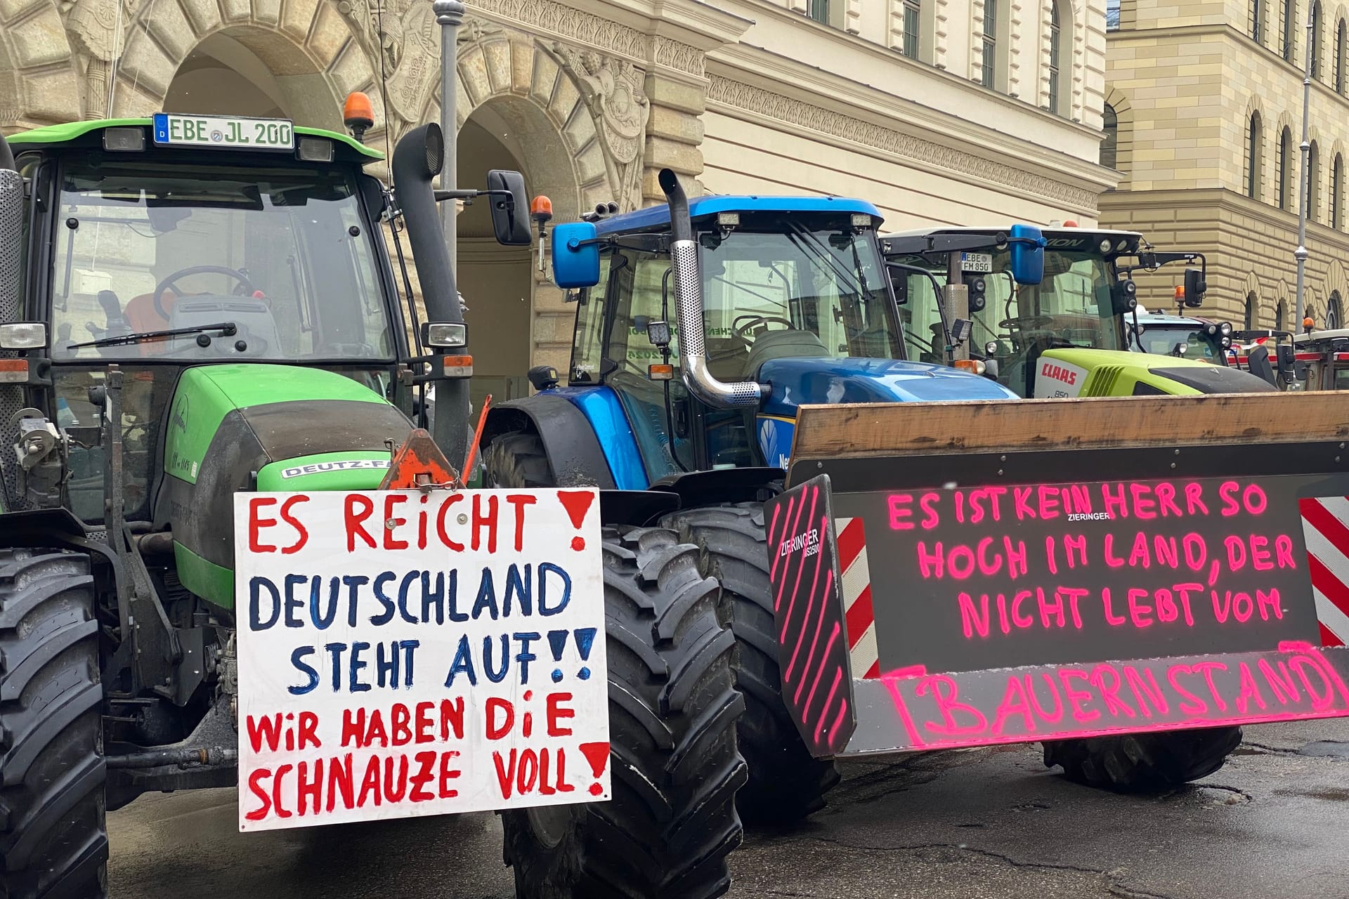
[[[237,493],[239,829],[608,799],[598,497]]]

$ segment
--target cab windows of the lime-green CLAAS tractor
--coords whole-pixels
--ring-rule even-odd
[[[1028,395],[1035,359],[1055,346],[1124,349],[1124,336],[1110,302],[1114,272],[1095,252],[1045,249],[1044,280],[1018,284],[1012,278],[1010,253],[990,253],[987,272],[966,272],[965,279],[985,279],[985,307],[973,313],[971,354],[998,361],[998,381]],[[893,257],[905,266],[927,268],[942,287],[947,259]],[[905,341],[911,356],[946,363],[946,336],[932,280],[908,275],[908,302],[901,306]]]

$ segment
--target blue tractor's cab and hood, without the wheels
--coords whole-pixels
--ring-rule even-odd
[[[577,291],[577,317],[567,385],[549,394],[603,421],[618,487],[781,468],[803,403],[1010,396],[905,360],[871,204],[704,197],[687,213],[687,239],[669,206],[552,232],[554,280]]]

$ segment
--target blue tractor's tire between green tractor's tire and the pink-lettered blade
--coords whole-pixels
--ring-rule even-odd
[[[832,762],[811,756],[782,701],[773,590],[768,581],[768,535],[758,503],[674,512],[661,520],[681,540],[695,543],[703,571],[722,585],[739,646],[737,686],[745,694],[741,752],[749,783],[737,799],[750,824],[791,824],[824,807],[839,782]]]

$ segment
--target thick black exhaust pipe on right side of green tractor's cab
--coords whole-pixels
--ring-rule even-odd
[[[403,135],[394,148],[393,177],[398,206],[407,222],[407,243],[411,244],[413,264],[426,303],[426,321],[457,325],[464,321],[464,314],[432,186],[444,163],[445,135],[440,125],[420,125]],[[411,297],[407,302],[413,302]],[[442,354],[445,350],[432,352]],[[455,350],[456,354],[465,352],[467,348]],[[451,377],[433,383],[436,415],[432,437],[449,461],[459,465],[468,453],[468,379]]]

